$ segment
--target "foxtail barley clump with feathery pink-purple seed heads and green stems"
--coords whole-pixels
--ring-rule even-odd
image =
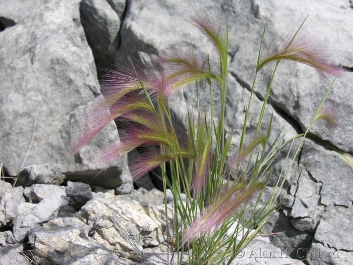
[[[89,114],[95,122],[74,142],[71,153],[79,151],[109,122],[123,120],[125,127],[120,131],[121,140],[103,150],[97,163],[109,164],[131,150],[142,147],[143,155],[134,156],[133,161],[130,161],[133,179],[160,167],[164,191],[169,188],[174,198],[173,233],[169,235],[173,253],[171,259],[178,264],[199,265],[219,264],[228,258],[229,264],[251,240],[261,234],[264,224],[278,208],[280,189],[312,124],[324,119],[329,125],[334,125],[326,109],[322,108],[333,81],[306,132],[288,141],[282,137],[265,152],[272,119],[266,133],[260,133],[260,129],[280,62],[291,60],[306,64],[324,78],[335,79],[340,69],[327,63],[322,49],[302,34],[303,24],[296,32],[287,34],[282,42],[269,45],[268,49],[263,48],[264,28],[240,144],[234,154],[228,155],[233,134],[226,134],[224,129],[228,90],[227,23],[201,17],[195,17],[193,21],[195,27],[213,44],[216,56],[184,47],[183,50],[165,52],[156,60],[159,67],[152,73],[131,59],[117,70],[108,71],[102,84],[103,97],[95,101],[93,112]],[[252,136],[253,140],[245,144],[257,74],[271,65],[274,65],[274,70],[256,132]],[[168,97],[191,83],[196,84],[195,93],[198,96],[201,80],[209,86],[210,105],[201,106],[198,100],[196,112],[188,113],[188,130],[181,130],[174,124]],[[219,89],[219,102],[213,100],[214,83]],[[216,103],[219,104],[217,108],[214,105]],[[210,113],[205,113],[205,107],[209,108]],[[272,197],[265,205],[258,207],[277,154],[285,146],[291,149],[296,139],[301,142],[294,157],[286,158],[289,168],[284,170],[283,166]],[[170,166],[169,178],[166,163]],[[184,202],[182,193],[186,197]],[[249,203],[250,200],[255,203]],[[251,213],[251,218],[246,219],[246,213]],[[227,234],[230,227],[233,228],[231,235]],[[182,253],[185,252],[188,253],[188,259],[183,261]]]

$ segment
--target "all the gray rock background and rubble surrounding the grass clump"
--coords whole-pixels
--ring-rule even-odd
[[[349,0],[0,1],[0,163],[3,176],[17,177],[15,187],[13,179],[0,181],[0,263],[165,264],[170,216],[163,193],[154,189],[158,173],[141,179],[136,190],[127,156],[108,168],[93,163],[98,150],[119,141],[116,125],[110,123],[76,157],[66,158],[77,128],[89,124],[82,120],[89,102],[100,96],[97,73],[128,57],[151,65],[173,43],[192,41],[196,51],[203,50],[207,45],[188,24],[190,17],[227,14],[226,129],[239,136],[264,24],[276,39],[308,13],[305,30],[332,51],[333,64],[351,71]],[[271,71],[259,74],[250,133]],[[299,259],[305,258],[310,265],[353,264],[353,169],[342,156],[349,160],[353,153],[351,84],[348,74],[329,95],[337,127],[315,124],[296,158],[281,208],[268,223],[269,233],[284,232],[256,239],[232,264],[303,264]],[[269,122],[273,114],[270,142],[305,131],[327,88],[314,70],[284,62],[264,117]],[[200,100],[207,104],[206,93]],[[186,111],[197,104],[195,92],[175,93],[170,104],[183,129]],[[283,160],[279,156],[264,199]]]

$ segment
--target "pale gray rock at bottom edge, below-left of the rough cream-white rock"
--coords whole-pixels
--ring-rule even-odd
[[[90,240],[88,226],[75,219],[55,219],[29,232],[29,242],[35,248],[38,261],[43,258],[55,264],[129,264],[104,245]]]

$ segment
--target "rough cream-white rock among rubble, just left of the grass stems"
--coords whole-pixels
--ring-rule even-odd
[[[165,215],[148,204],[98,198],[87,202],[80,213],[92,227],[91,237],[124,258],[141,262],[143,248],[166,241]]]

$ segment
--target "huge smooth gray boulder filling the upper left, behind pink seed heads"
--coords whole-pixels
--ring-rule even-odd
[[[71,179],[97,170],[86,159],[85,150],[78,161],[74,157],[63,160],[75,127],[70,117],[75,108],[99,93],[94,59],[80,23],[79,2],[45,1],[19,24],[0,33],[0,69],[4,70],[0,71],[0,115],[4,117],[0,161],[10,176],[17,175],[29,145],[25,167],[56,164]],[[116,127],[105,128],[86,152],[98,150],[97,142],[102,146],[107,140],[119,140]],[[102,171],[102,178],[114,179],[114,187],[128,183],[125,161]],[[130,177],[122,192],[131,187]]]

